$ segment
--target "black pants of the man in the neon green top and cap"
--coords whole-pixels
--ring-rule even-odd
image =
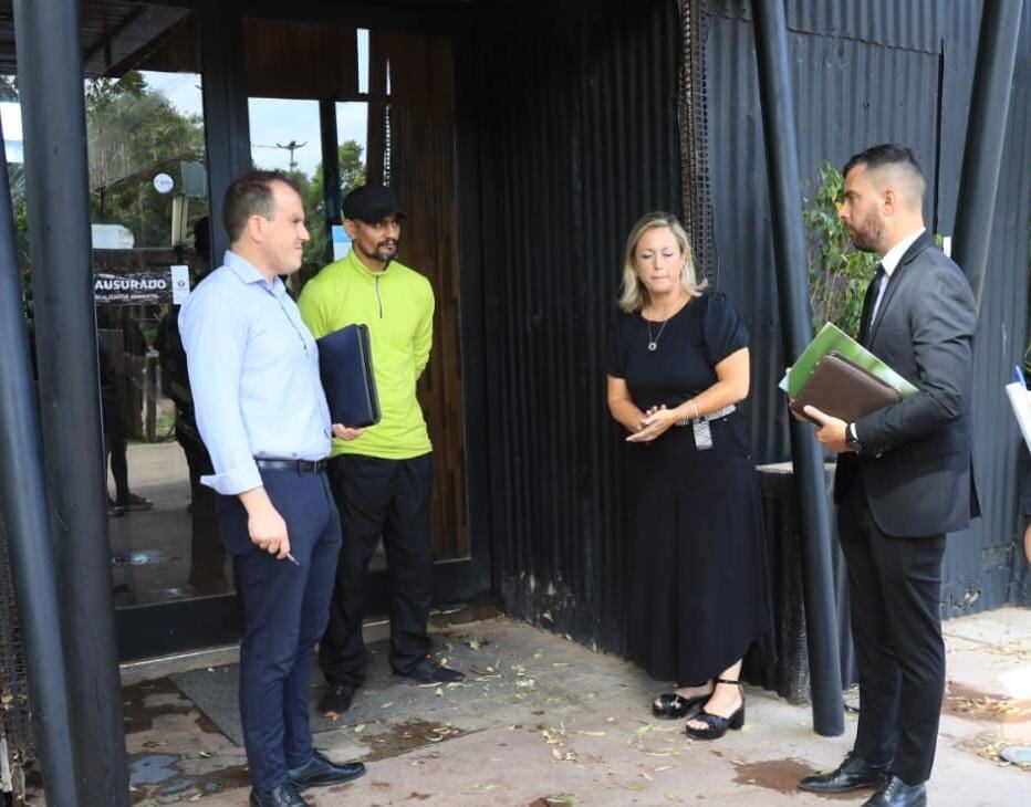
[[[433,454],[410,460],[341,454],[330,459],[329,470],[344,544],[319,667],[331,685],[357,688],[365,682],[368,564],[381,536],[390,586],[390,667],[410,672],[430,650]]]

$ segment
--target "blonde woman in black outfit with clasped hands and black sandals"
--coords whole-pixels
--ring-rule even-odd
[[[736,409],[748,332],[726,295],[701,292],[668,213],[631,231],[619,307],[608,408],[629,432],[629,652],[678,682],[655,713],[689,716],[689,735],[714,740],[743,725],[741,661],[767,652],[772,625],[758,476]]]

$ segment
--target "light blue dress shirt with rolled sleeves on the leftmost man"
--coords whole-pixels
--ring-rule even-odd
[[[179,312],[197,426],[225,495],[261,486],[254,458],[321,460],[330,408],[319,348],[277,277],[232,251]]]

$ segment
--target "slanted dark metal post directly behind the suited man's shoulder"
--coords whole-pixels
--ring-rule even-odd
[[[952,250],[952,258],[973,287],[978,310],[991,245],[1022,6],[1023,0],[986,0],[981,12]]]

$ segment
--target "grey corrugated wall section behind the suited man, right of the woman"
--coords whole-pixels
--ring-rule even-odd
[[[789,454],[787,415],[775,388],[785,361],[749,8],[743,0],[727,2],[710,35],[711,181],[719,285],[752,325],[754,446],[761,461],[778,461]],[[980,3],[806,0],[787,8],[799,160],[809,187],[822,159],[841,167],[875,143],[906,143],[928,176],[928,227],[951,234]],[[946,617],[1007,602],[1018,565],[1017,469],[1025,450],[1002,386],[1028,342],[1029,33],[1025,9],[976,350],[975,471],[983,516],[949,539]]]

